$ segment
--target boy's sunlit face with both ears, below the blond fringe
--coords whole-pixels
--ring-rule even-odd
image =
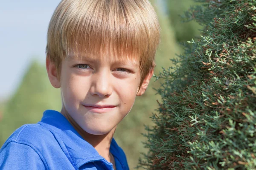
[[[139,91],[138,59],[82,58],[67,56],[61,63],[60,80],[48,59],[48,76],[55,88],[61,87],[64,114],[87,133],[106,134],[129,113],[136,96],[145,92],[153,71]]]

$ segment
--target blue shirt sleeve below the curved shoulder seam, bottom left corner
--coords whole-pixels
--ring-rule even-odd
[[[0,170],[46,170],[46,168],[31,146],[9,142],[0,149]]]

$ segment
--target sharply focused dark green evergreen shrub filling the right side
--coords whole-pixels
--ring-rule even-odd
[[[186,16],[205,29],[157,77],[162,103],[139,166],[256,169],[256,0],[198,2]]]

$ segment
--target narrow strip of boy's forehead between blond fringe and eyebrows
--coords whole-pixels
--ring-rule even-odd
[[[131,64],[134,66],[140,66],[139,57],[130,56],[115,56],[115,55],[88,55],[88,54],[68,54],[66,57],[67,61],[88,61],[88,62],[109,62],[118,64]]]

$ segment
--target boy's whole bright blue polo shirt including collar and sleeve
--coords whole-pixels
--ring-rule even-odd
[[[116,170],[129,170],[125,153],[112,139]],[[23,125],[0,149],[0,170],[113,170],[113,165],[86,142],[57,111],[41,122]]]

